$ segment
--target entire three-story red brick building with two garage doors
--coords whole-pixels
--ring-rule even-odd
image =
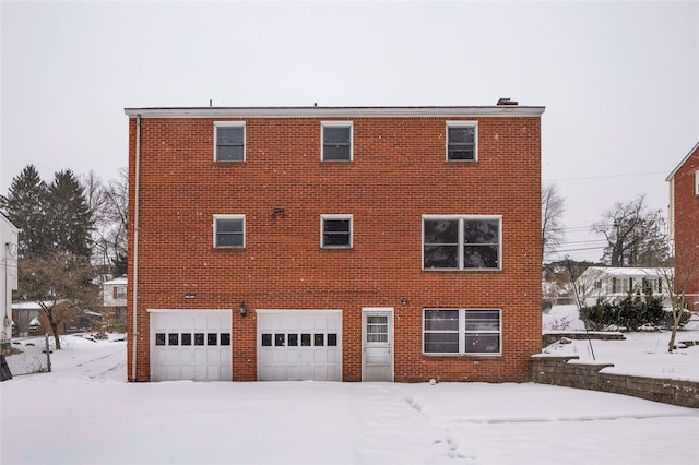
[[[126,109],[129,380],[529,380],[543,111]]]

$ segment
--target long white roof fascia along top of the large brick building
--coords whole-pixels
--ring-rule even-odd
[[[129,118],[540,117],[545,107],[190,107],[125,108]]]

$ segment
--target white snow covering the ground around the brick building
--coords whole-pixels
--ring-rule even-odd
[[[699,380],[699,346],[627,337],[593,342],[607,370]],[[691,408],[533,383],[135,384],[126,343],[64,343],[51,373],[0,383],[3,465],[699,463]]]

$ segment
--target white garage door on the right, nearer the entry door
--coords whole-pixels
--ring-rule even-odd
[[[258,310],[258,380],[342,381],[342,310]]]

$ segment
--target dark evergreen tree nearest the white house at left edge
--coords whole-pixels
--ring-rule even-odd
[[[12,180],[8,195],[0,195],[0,207],[22,230],[19,236],[21,258],[43,257],[51,249],[46,222],[48,188],[34,165],[27,165]]]

